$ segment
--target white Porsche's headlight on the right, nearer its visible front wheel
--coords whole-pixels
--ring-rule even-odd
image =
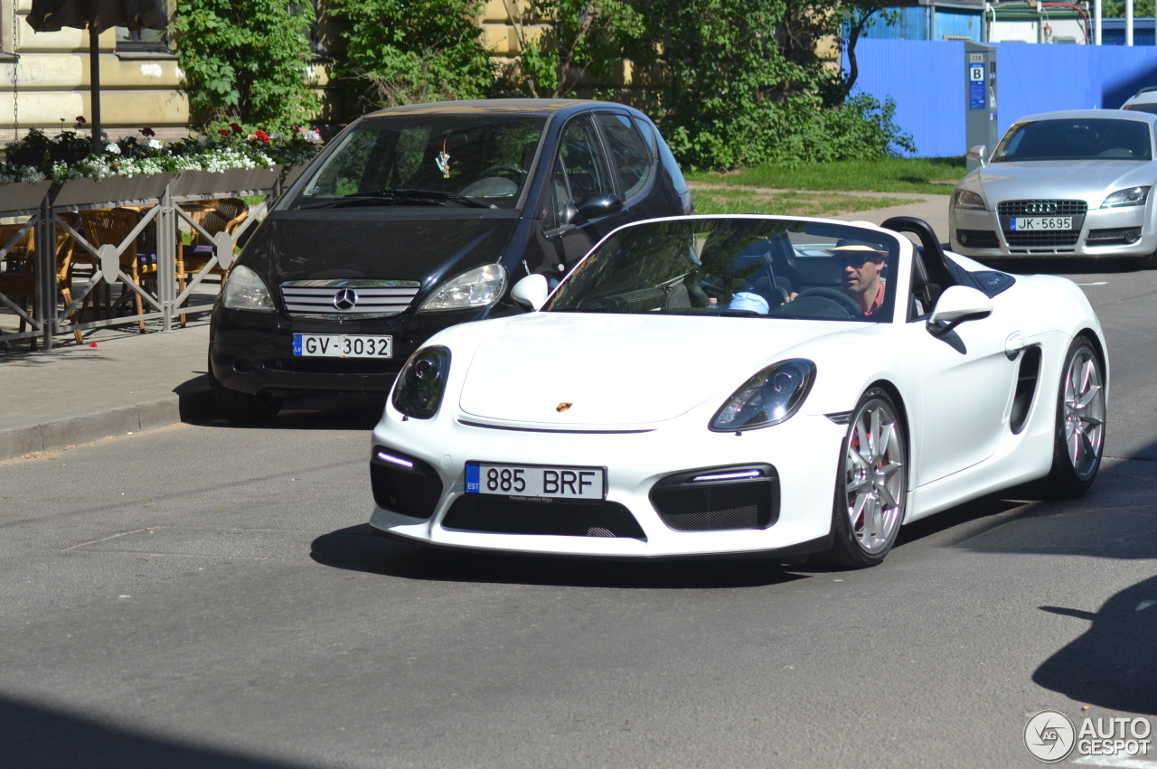
[[[803,405],[816,380],[816,364],[801,357],[780,361],[747,379],[715,413],[712,430],[731,432],[779,424]]]

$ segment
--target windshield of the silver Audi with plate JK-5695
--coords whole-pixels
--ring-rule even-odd
[[[1012,126],[994,163],[1020,161],[1152,160],[1149,124],[1113,118],[1036,120]]]

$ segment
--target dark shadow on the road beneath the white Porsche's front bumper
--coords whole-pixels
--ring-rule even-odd
[[[323,565],[403,579],[436,582],[697,590],[761,587],[805,576],[767,559],[614,561],[435,550],[351,526],[314,540]]]

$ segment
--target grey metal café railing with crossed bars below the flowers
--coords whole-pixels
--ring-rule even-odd
[[[27,300],[25,296],[9,297],[0,293],[0,311],[15,313],[12,319],[22,321],[21,325],[27,326],[27,331],[0,327],[0,342],[29,339],[35,345],[39,340],[45,349],[52,349],[53,337],[57,334],[150,320],[160,320],[161,330],[172,331],[185,315],[211,310],[213,302],[206,302],[205,293],[198,291],[202,288],[202,281],[211,274],[228,271],[233,265],[238,239],[257,225],[268,204],[280,195],[281,190],[300,171],[299,168],[282,175],[281,167],[278,165],[272,169],[183,171],[176,176],[156,173],[100,180],[73,179],[64,184],[40,182],[0,186],[0,219],[27,217],[22,223],[16,222],[16,229],[8,228],[13,235],[0,238],[7,241],[0,242],[0,261],[7,263],[9,267],[16,264],[9,254],[24,241],[30,228],[35,230],[32,264],[24,265],[25,269],[31,267],[35,275],[31,309],[25,310],[16,302],[17,298]],[[250,195],[265,195],[265,199],[251,207],[249,215],[231,232],[209,232],[197,221],[198,201]],[[67,216],[69,212],[82,214],[124,207],[135,208],[139,220],[117,245],[94,244],[91,234],[76,227],[75,217]],[[183,227],[199,235],[204,243],[212,244],[212,257],[200,265],[198,272],[178,275],[177,265],[182,261],[178,257],[184,245],[179,230]],[[86,282],[71,280],[72,300],[67,303],[60,301],[58,286],[58,231],[72,236],[74,261],[79,254],[80,260],[90,268]],[[155,258],[155,274],[150,275],[148,289],[125,271],[123,259],[126,250],[143,236],[150,239],[149,247],[143,252],[138,247],[138,253],[127,254],[126,259],[131,263],[132,259],[143,257],[152,264]],[[155,243],[152,242],[153,238]],[[98,293],[111,294],[111,287],[115,286],[119,287],[120,304],[125,300],[139,297],[141,311],[98,318],[94,310],[90,319],[75,319],[78,311],[89,302],[95,308]],[[219,289],[218,286],[214,291]],[[200,303],[187,304],[193,301]]]

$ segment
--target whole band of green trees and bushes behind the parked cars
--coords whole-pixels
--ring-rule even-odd
[[[611,96],[659,124],[691,169],[878,158],[914,150],[896,105],[855,95],[855,40],[884,0],[511,0],[517,61],[498,72],[481,0],[327,0],[346,50],[331,75],[356,114],[495,95]],[[174,21],[201,119],[283,130],[318,109],[302,77],[309,2],[182,0]],[[538,31],[545,31],[539,35]],[[849,72],[817,43],[834,37]],[[620,88],[629,60],[641,87]],[[603,89],[602,93],[599,89]]]

